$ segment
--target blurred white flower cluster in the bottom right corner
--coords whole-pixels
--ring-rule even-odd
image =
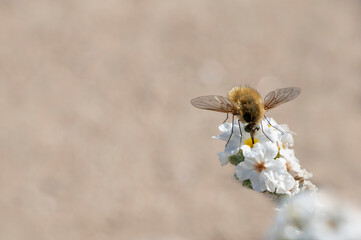
[[[320,194],[303,192],[279,210],[268,240],[359,240],[361,214]]]

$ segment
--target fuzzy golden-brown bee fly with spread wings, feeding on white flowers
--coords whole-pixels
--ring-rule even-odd
[[[234,116],[238,117],[238,124],[239,122],[246,124],[244,130],[250,133],[252,143],[254,143],[254,135],[260,129],[259,125],[264,113],[282,103],[291,101],[300,93],[300,88],[280,88],[268,93],[262,102],[260,94],[255,89],[248,86],[236,86],[229,91],[228,97],[201,96],[193,98],[191,104],[200,109],[227,113],[227,119],[228,113],[232,114],[232,131],[227,144],[233,134]]]

